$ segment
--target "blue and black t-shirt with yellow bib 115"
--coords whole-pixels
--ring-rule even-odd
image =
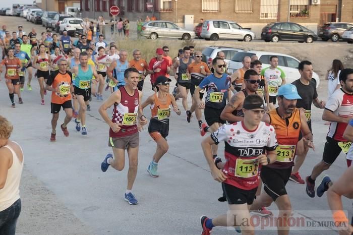
[[[211,74],[202,80],[199,87],[207,90],[206,107],[215,109],[223,109],[225,107],[230,87],[230,77],[227,74],[223,74],[221,78]]]

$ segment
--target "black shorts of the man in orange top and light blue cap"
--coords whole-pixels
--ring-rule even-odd
[[[286,169],[275,169],[271,167],[263,166],[261,168],[261,180],[264,184],[265,192],[276,201],[279,196],[286,195],[285,185],[287,184],[291,168]]]

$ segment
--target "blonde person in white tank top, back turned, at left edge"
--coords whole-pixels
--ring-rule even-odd
[[[21,213],[23,152],[18,143],[10,140],[12,130],[10,122],[0,116],[0,234],[7,235],[15,234]]]

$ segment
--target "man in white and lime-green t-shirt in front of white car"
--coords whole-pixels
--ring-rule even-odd
[[[273,109],[276,104],[278,87],[285,84],[285,74],[283,70],[278,67],[278,57],[276,55],[270,57],[270,67],[263,69],[261,75],[264,76],[267,81],[270,108]]]

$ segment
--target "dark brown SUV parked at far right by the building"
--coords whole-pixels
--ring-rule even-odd
[[[323,41],[328,41],[331,39],[331,41],[336,42],[339,41],[339,39],[342,37],[343,32],[350,27],[353,27],[353,24],[343,22],[328,22],[319,29],[318,34]]]

